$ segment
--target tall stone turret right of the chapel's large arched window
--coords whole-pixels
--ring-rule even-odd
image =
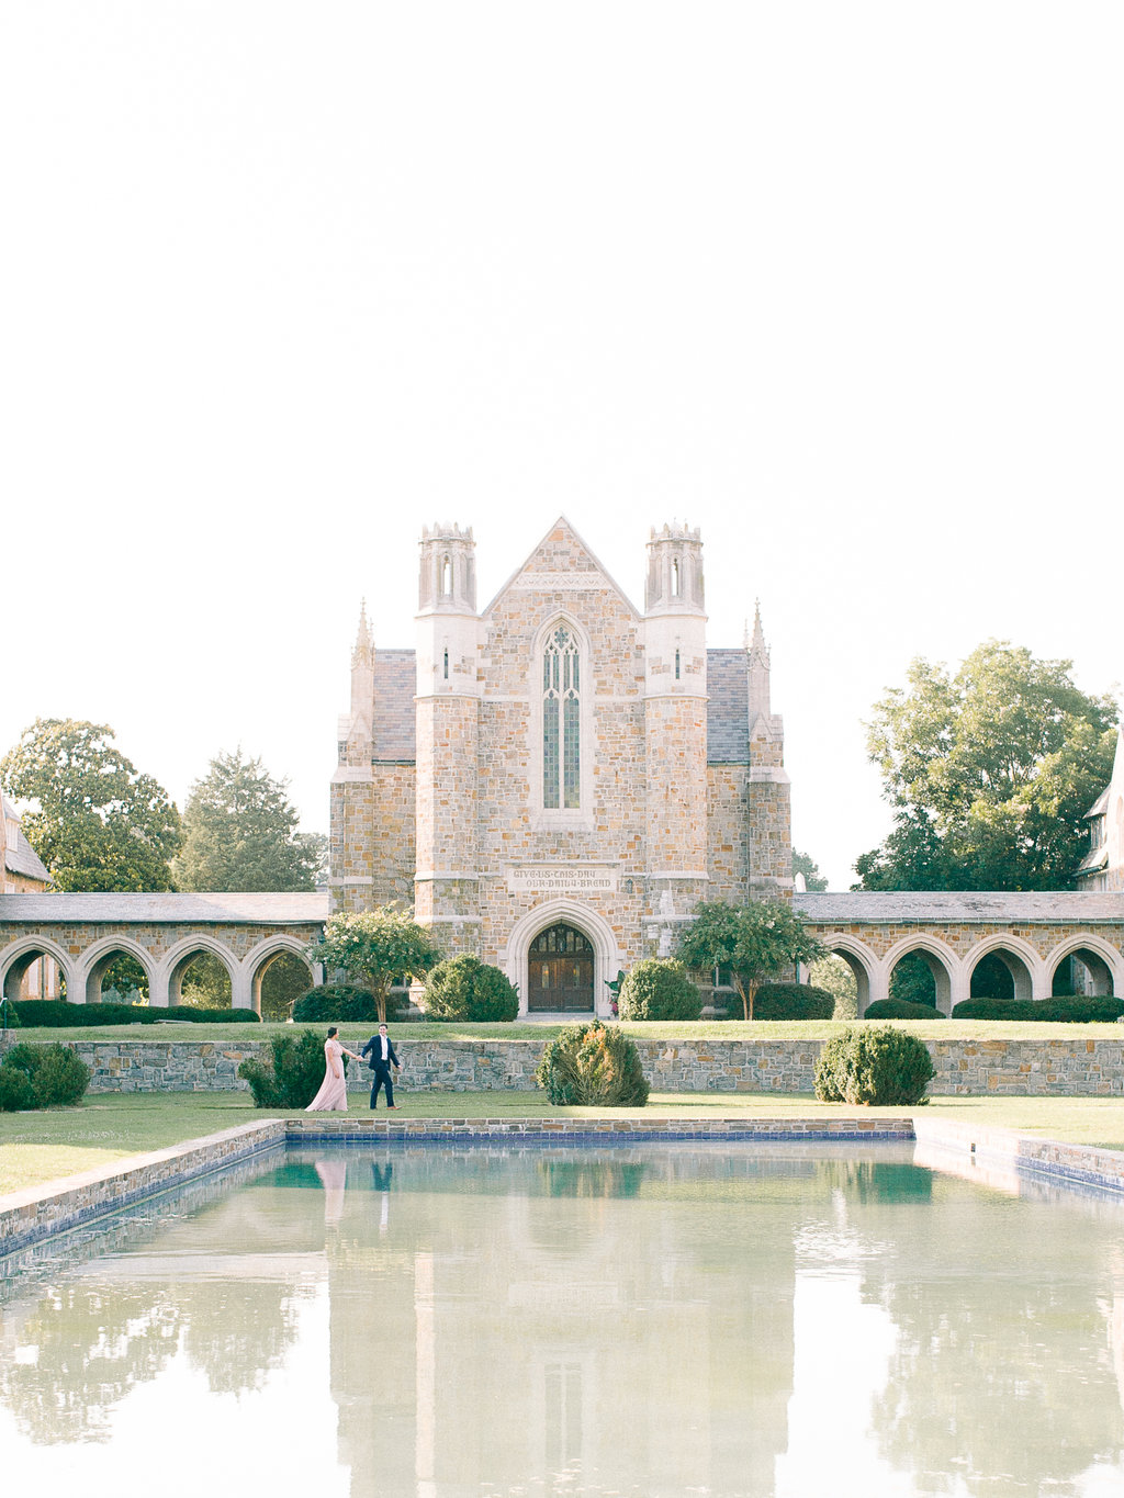
[[[707,884],[706,607],[698,530],[647,542],[644,743],[647,914],[685,918]]]

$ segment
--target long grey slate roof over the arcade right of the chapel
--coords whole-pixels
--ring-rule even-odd
[[[793,909],[811,921],[964,921],[1000,926],[1036,921],[1124,921],[1124,894],[1087,894],[1082,890],[871,890],[835,894],[794,894]]]

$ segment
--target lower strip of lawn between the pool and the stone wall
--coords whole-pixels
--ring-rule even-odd
[[[728,1026],[724,1026],[728,1028]],[[552,1109],[543,1092],[399,1092],[405,1118],[593,1118],[596,1109]],[[613,1110],[608,1116],[635,1116]],[[847,1109],[793,1094],[653,1094],[652,1118],[869,1118],[905,1109]],[[1124,1149],[1124,1103],[1112,1098],[938,1098],[934,1116]],[[355,1094],[349,1113],[369,1113]],[[244,1092],[96,1094],[75,1109],[0,1113],[0,1194],[91,1170],[283,1112],[258,1110]]]

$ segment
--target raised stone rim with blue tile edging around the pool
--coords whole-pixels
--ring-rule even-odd
[[[982,1162],[1015,1177],[1060,1186],[1124,1194],[1124,1150],[1094,1149],[1063,1140],[977,1126],[923,1115],[838,1119],[259,1119],[187,1140],[168,1149],[130,1155],[39,1186],[0,1195],[0,1258],[31,1248],[97,1218],[132,1207],[201,1176],[225,1170],[289,1144],[463,1144],[537,1146],[647,1143],[869,1143],[926,1144]]]

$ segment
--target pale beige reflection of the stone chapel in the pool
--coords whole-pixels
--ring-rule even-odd
[[[405,1153],[388,1233],[385,1192],[349,1192],[330,1240],[352,1498],[550,1492],[578,1474],[605,1489],[647,1474],[649,1492],[770,1494],[791,1395],[787,1225],[755,1225],[743,1200],[710,1198],[670,1161],[540,1153],[511,1195],[486,1155],[468,1167],[471,1192]]]

